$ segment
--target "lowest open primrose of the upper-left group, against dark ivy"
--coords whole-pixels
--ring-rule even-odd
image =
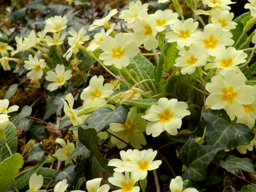
[[[47,90],[51,92],[57,90],[59,86],[62,86],[71,77],[71,71],[65,71],[64,65],[56,65],[55,72],[48,71],[47,76],[45,76],[47,81],[52,81],[52,83],[47,86]]]

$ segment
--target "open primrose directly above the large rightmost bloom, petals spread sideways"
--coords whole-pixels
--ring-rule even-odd
[[[246,62],[246,58],[247,54],[243,50],[237,51],[234,47],[228,47],[216,56],[214,62],[207,63],[205,69],[218,68],[218,72],[225,76],[229,70],[234,70],[234,67]]]

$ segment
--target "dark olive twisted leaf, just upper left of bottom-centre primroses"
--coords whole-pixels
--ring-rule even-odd
[[[83,129],[79,127],[78,129],[78,138],[86,148],[91,150],[95,156],[97,164],[104,172],[107,172],[109,175],[113,173],[113,169],[108,166],[108,160],[102,157],[98,150],[97,143],[97,132],[95,129]]]

